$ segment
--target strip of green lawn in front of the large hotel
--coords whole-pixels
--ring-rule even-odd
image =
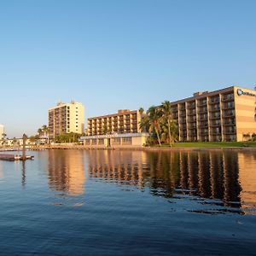
[[[154,145],[158,147],[159,145]],[[169,147],[168,144],[162,144],[162,147]],[[173,147],[189,147],[189,148],[236,148],[236,147],[250,147],[256,148],[256,142],[243,142],[243,143],[225,143],[225,142],[218,142],[218,143],[174,143]]]

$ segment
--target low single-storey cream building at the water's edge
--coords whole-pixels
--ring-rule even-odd
[[[85,148],[142,148],[148,133],[113,133],[81,137]]]

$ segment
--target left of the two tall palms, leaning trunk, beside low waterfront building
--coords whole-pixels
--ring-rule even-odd
[[[148,108],[147,111],[147,115],[148,115],[148,131],[152,132],[154,131],[157,139],[158,139],[158,143],[161,146],[161,142],[160,142],[160,120],[161,120],[161,110],[160,108],[155,108],[154,106]]]

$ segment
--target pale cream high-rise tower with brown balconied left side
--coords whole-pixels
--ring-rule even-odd
[[[80,102],[62,103],[48,110],[49,138],[84,132],[84,106]]]

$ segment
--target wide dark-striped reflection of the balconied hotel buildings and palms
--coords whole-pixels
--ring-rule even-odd
[[[198,195],[224,207],[256,204],[255,154],[239,151],[90,151],[89,176],[149,188],[154,195]]]

